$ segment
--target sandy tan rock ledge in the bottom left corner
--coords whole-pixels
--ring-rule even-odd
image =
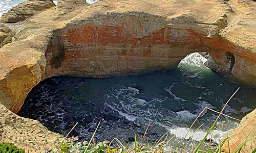
[[[26,152],[56,147],[63,136],[50,132],[39,121],[19,117],[0,104],[0,142],[15,143]]]

